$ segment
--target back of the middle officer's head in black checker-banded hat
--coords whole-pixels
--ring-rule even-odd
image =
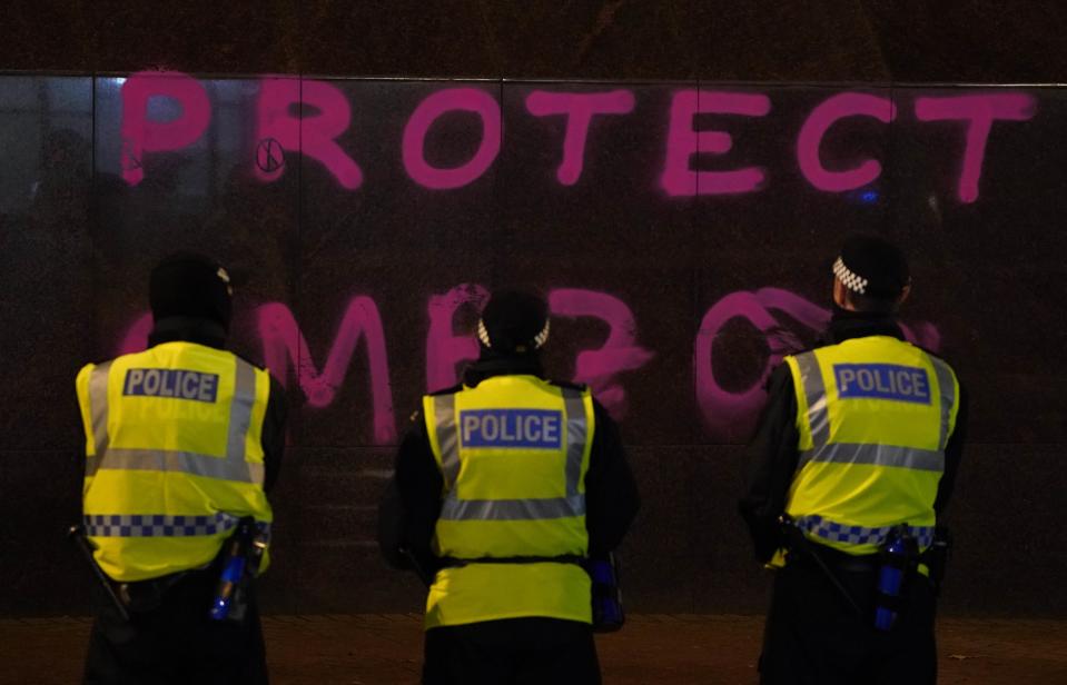
[[[534,354],[549,339],[549,305],[530,290],[496,290],[482,310],[478,343],[504,355]]]

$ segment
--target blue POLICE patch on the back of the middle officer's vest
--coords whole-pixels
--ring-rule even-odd
[[[559,449],[563,413],[546,409],[468,409],[460,411],[464,447]]]

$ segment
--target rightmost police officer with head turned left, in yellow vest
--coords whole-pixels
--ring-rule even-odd
[[[832,270],[823,345],[774,370],[748,449],[741,515],[758,559],[779,568],[761,682],[933,683],[943,559],[931,544],[966,403],[951,367],[895,320],[911,289],[896,246],[850,236]],[[887,568],[903,577],[896,593]],[[878,607],[893,617],[880,627]]]

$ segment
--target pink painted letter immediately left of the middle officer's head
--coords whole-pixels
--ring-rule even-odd
[[[460,381],[457,365],[478,358],[478,344],[474,336],[457,336],[453,319],[464,305],[474,305],[478,311],[490,299],[490,291],[475,284],[456,286],[444,295],[432,295],[429,335],[426,338],[426,390],[448,388]]]

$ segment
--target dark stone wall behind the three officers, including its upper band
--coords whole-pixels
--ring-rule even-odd
[[[235,345],[287,377],[290,447],[273,497],[276,565],[264,586],[270,610],[417,610],[415,580],[377,559],[374,504],[396,431],[452,368],[446,358],[427,360],[427,347],[442,347],[428,343],[447,341],[434,317],[468,338],[484,291],[442,296],[462,284],[510,282],[553,295],[549,368],[593,383],[622,417],[645,498],[623,550],[631,606],[760,610],[765,576],[734,514],[741,445],[758,415],[761,375],[813,340],[834,247],[858,227],[908,247],[917,287],[905,320],[971,391],[946,609],[1064,614],[1067,597],[1056,589],[1067,572],[1056,525],[1067,492],[1065,378],[1056,364],[1067,343],[1064,91],[998,91],[1031,98],[1033,116],[994,125],[974,201],[958,188],[966,126],[920,122],[915,103],[991,89],[857,88],[891,98],[898,116],[891,126],[857,117],[830,130],[821,147],[829,169],[866,158],[885,167],[847,192],[816,189],[799,169],[797,143],[812,109],[844,90],[814,81],[1061,81],[1067,51],[1056,27],[1065,10],[556,4],[6,6],[3,69],[629,82],[467,83],[501,103],[501,151],[470,185],[431,190],[405,168],[404,130],[427,96],[463,85],[333,81],[352,117],[337,143],[363,172],[349,190],[293,148],[280,177],[264,182],[256,160],[269,166],[273,148],[258,137],[256,76],[198,77],[211,116],[197,142],[128,156],[119,80],[0,77],[0,614],[85,609],[88,575],[62,539],[79,510],[73,375],[136,346],[148,268],[177,248],[231,266]],[[696,88],[695,79],[705,90],[769,97],[765,117],[695,118],[698,128],[728,131],[733,149],[696,155],[693,168],[761,167],[759,190],[664,191],[672,98]],[[531,116],[526,96],[616,88],[633,93],[632,112],[595,119],[581,178],[561,185],[563,119]],[[166,99],[149,105],[151,120],[180,116]],[[472,115],[443,117],[431,129],[427,162],[462,165],[480,131]],[[137,166],[145,177],[132,186],[124,169]],[[295,328],[278,325],[285,311],[264,309],[273,302],[292,312],[306,351]],[[367,354],[376,330],[368,304],[381,319],[384,366]],[[600,348],[609,354],[583,364],[582,351]]]

